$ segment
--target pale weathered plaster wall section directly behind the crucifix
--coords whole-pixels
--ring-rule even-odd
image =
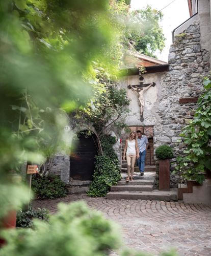
[[[159,95],[161,94],[161,73],[153,73],[153,74],[143,74],[144,83],[152,83],[155,82],[154,87],[150,87],[144,93],[144,121],[140,120],[140,106],[138,102],[138,93],[133,91],[132,89],[128,89],[128,84],[134,85],[139,84],[139,75],[127,76],[124,77],[120,81],[120,88],[124,88],[127,91],[127,97],[130,99],[129,109],[130,114],[126,118],[126,124],[128,125],[154,125],[157,120],[160,119],[159,115],[156,114],[157,109],[157,100],[159,99]]]

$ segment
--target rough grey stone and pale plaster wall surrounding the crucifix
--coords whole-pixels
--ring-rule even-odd
[[[179,103],[179,99],[198,97],[201,94],[203,76],[209,73],[209,60],[209,52],[201,47],[199,22],[194,21],[174,38],[169,53],[169,71],[143,74],[144,83],[156,83],[144,95],[144,121],[140,120],[137,92],[127,88],[128,84],[140,82],[139,75],[122,78],[119,87],[127,90],[131,100],[131,113],[126,123],[130,126],[153,126],[154,148],[168,144],[174,149],[176,157],[184,147],[179,134],[182,127],[193,118],[197,108],[196,103]],[[121,161],[119,141],[114,149]],[[175,158],[172,159],[171,170],[175,167],[175,161]],[[52,163],[51,171],[68,183],[70,168],[69,156],[58,155]],[[171,187],[175,187],[177,182],[178,177],[171,176]]]

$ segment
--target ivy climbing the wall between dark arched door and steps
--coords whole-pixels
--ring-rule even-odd
[[[129,100],[124,89],[118,89],[117,83],[102,73],[98,75],[97,82],[96,98],[83,110],[76,111],[73,117],[77,130],[85,127],[88,133],[92,132],[97,137],[98,156],[89,196],[105,196],[121,178],[120,163],[113,149],[116,139],[108,134],[115,129],[121,132],[126,127],[124,119],[129,112]]]

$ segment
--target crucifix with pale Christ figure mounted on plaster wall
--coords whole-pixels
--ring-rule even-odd
[[[139,106],[140,106],[140,120],[143,121],[143,112],[144,112],[144,92],[146,92],[151,86],[155,86],[155,82],[152,83],[143,83],[144,77],[140,76],[139,78],[140,82],[139,84],[134,84],[131,86],[131,84],[128,85],[128,89],[132,89],[133,91],[138,93],[138,98],[139,98]]]

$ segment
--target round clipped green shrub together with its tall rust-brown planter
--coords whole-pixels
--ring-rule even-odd
[[[155,155],[159,159],[159,190],[170,190],[170,161],[173,157],[172,148],[161,145],[156,148]]]

